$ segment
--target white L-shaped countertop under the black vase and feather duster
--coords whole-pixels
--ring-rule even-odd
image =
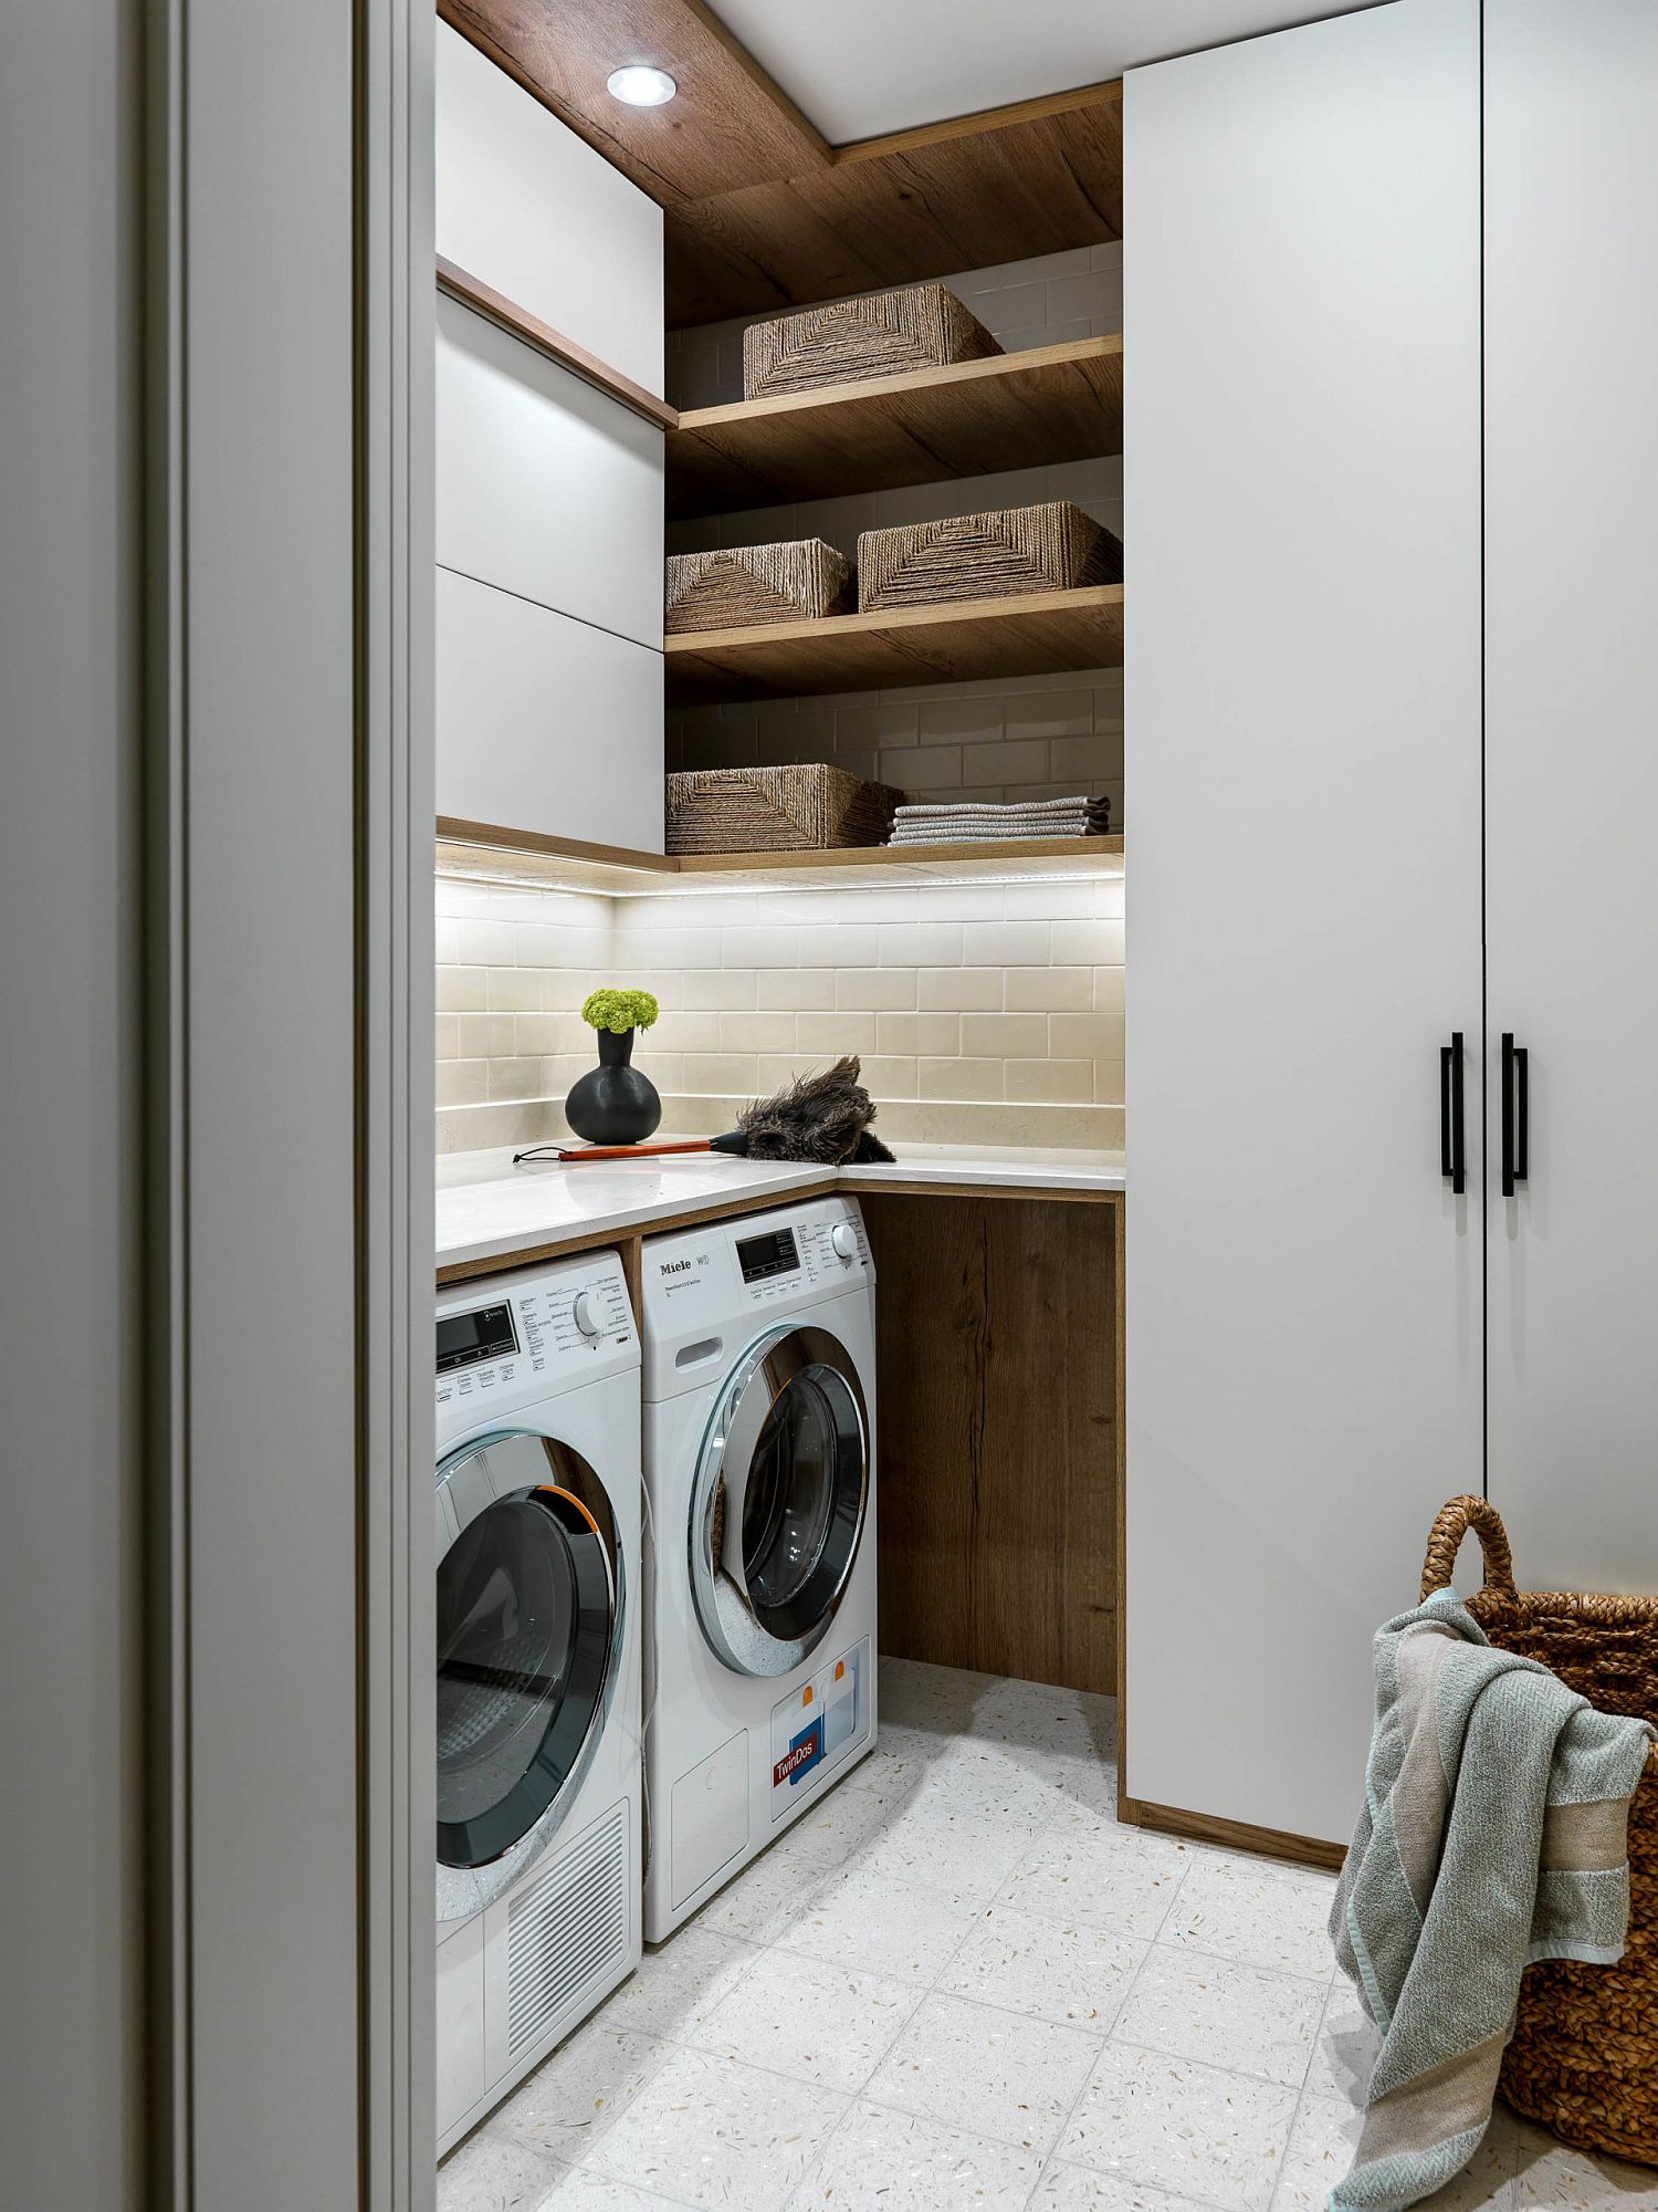
[[[785,1199],[791,1190],[838,1181],[844,1190],[882,1183],[940,1188],[1123,1190],[1121,1152],[1057,1152],[993,1144],[900,1144],[895,1166],[796,1168],[725,1152],[670,1159],[606,1159],[559,1166],[511,1150],[447,1152],[438,1159],[438,1265],[511,1259],[575,1237],[648,1228],[699,1206]]]

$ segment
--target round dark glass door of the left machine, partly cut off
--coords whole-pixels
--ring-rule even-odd
[[[619,1652],[621,1557],[604,1484],[568,1444],[497,1431],[438,1469],[438,1863],[513,1845],[573,1796]],[[506,1854],[513,1854],[511,1860]],[[502,1880],[502,1887],[504,1887]]]

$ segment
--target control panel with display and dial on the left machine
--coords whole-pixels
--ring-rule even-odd
[[[438,1444],[637,1365],[639,1332],[615,1252],[458,1283],[438,1298]]]

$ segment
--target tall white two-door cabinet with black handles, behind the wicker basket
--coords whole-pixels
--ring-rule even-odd
[[[1127,84],[1150,1805],[1349,1834],[1457,1491],[1532,1586],[1658,1590],[1656,104],[1649,0]]]

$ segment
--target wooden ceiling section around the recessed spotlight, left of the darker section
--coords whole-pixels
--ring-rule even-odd
[[[694,0],[438,0],[438,13],[665,208],[829,161],[794,102]],[[626,62],[665,69],[679,97],[612,100],[606,77]]]

